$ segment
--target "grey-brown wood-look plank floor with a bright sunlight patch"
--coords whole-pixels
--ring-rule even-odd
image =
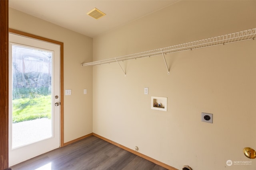
[[[52,150],[11,168],[36,170],[40,167],[43,169],[44,166],[44,170],[166,170],[95,136]]]

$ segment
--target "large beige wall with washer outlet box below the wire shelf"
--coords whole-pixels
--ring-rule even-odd
[[[180,1],[93,40],[94,61],[256,27],[256,1]],[[93,67],[93,132],[175,168],[254,170],[256,41]],[[149,95],[144,95],[144,87]],[[168,111],[150,109],[151,96]],[[213,113],[213,124],[201,122]],[[252,161],[227,166],[226,161]]]

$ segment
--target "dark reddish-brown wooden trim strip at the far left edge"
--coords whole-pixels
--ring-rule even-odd
[[[9,104],[9,66],[8,66],[8,0],[0,0],[0,170],[8,168],[8,104]]]

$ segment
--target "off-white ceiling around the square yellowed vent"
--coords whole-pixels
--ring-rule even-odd
[[[95,37],[179,0],[9,0],[9,7],[72,31]],[[86,13],[98,8],[106,16]]]

